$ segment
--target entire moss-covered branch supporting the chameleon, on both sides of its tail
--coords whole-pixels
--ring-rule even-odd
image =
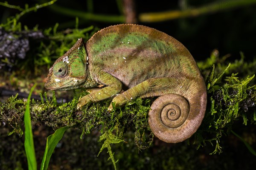
[[[244,125],[248,122],[256,124],[256,85],[248,85],[253,81],[254,75],[241,79],[237,77],[238,74],[231,74],[221,80],[231,67],[232,64],[229,64],[221,73],[214,76],[215,66],[212,66],[206,82],[208,103],[204,120],[194,136],[187,140],[193,141],[198,148],[204,147],[207,143],[212,144],[215,149],[211,154],[222,152],[221,137],[231,132],[234,122],[241,119]],[[44,97],[46,102],[43,100]],[[107,148],[115,169],[116,161],[111,144],[124,142],[124,134],[128,129],[135,131],[134,142],[139,150],[148,148],[153,142],[153,134],[148,125],[148,111],[155,98],[134,99],[123,108],[108,112],[111,99],[85,105],[81,111],[77,111],[76,96],[71,102],[62,104],[56,102],[54,92],[52,100],[47,99],[46,94],[44,97],[41,95],[41,102],[32,99],[32,122],[44,122],[53,128],[79,128],[82,131],[81,136],[100,127],[102,136],[99,140],[104,142],[99,153]],[[23,134],[21,125],[25,108],[26,102],[17,99],[17,95],[10,97],[5,103],[0,103],[0,125],[8,124],[13,128],[9,135]]]

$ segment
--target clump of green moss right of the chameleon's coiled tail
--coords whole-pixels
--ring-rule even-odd
[[[232,73],[230,77],[221,80],[224,73],[228,72],[230,68],[234,69],[239,66],[240,64],[237,62],[229,64],[222,73],[214,77],[215,66],[213,65],[206,82],[207,111],[201,127],[195,134],[195,141],[199,143],[198,148],[209,142],[212,146],[215,146],[212,153],[221,153],[221,137],[223,134],[230,133],[235,121],[241,118],[244,125],[247,125],[248,120],[252,124],[256,124],[253,118],[256,109],[254,105],[256,102],[256,85],[248,85],[252,82],[254,75],[241,79],[237,77],[238,73]]]

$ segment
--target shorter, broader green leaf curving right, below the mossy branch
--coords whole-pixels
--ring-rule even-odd
[[[67,129],[68,127],[61,127],[57,129],[55,133],[48,136],[40,170],[47,170],[52,153]]]

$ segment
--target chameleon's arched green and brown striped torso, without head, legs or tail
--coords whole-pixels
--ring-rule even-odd
[[[102,68],[128,88],[148,78],[201,76],[184,45],[146,26],[109,26],[94,34],[86,49],[92,72]]]

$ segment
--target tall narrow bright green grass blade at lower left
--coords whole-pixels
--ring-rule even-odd
[[[36,157],[35,157],[35,147],[34,147],[34,139],[33,139],[33,133],[32,133],[32,125],[31,125],[31,117],[30,117],[30,97],[32,94],[32,91],[34,90],[36,84],[31,88],[27,105],[26,105],[26,111],[24,113],[24,125],[25,125],[25,152],[26,157],[28,161],[28,168],[29,170],[37,170],[37,163],[36,163]]]

